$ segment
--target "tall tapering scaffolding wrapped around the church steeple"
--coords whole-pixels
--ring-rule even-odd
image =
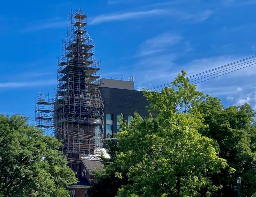
[[[54,101],[54,134],[61,150],[79,176],[79,154],[102,148],[104,103],[98,79],[100,61],[94,57],[94,39],[86,29],[87,13],[68,13],[68,32],[58,61]]]

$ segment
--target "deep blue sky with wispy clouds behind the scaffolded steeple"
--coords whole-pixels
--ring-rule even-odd
[[[54,96],[67,13],[88,13],[103,78],[134,76],[136,88],[168,83],[256,51],[255,0],[83,0],[1,3],[0,113],[34,118],[39,90]],[[4,8],[4,9],[3,9]],[[121,75],[122,73],[122,75]],[[223,104],[256,109],[256,66],[198,84]]]

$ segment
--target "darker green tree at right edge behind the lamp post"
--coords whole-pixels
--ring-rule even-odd
[[[241,195],[250,197],[256,192],[256,127],[255,113],[248,104],[224,108],[217,98],[208,97],[198,106],[204,124],[200,133],[214,139],[219,155],[236,172],[221,170],[212,181],[223,185],[214,196],[236,196],[236,178],[242,178]]]

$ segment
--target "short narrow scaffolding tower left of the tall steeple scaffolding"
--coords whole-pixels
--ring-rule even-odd
[[[36,95],[35,127],[44,130],[45,135],[52,135],[53,127],[53,100],[49,94],[40,91]]]

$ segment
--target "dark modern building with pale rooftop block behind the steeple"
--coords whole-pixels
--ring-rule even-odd
[[[118,132],[118,119],[123,115],[129,124],[134,112],[148,116],[148,102],[141,90],[134,90],[133,77],[126,80],[100,79],[100,93],[104,100],[104,137]]]

